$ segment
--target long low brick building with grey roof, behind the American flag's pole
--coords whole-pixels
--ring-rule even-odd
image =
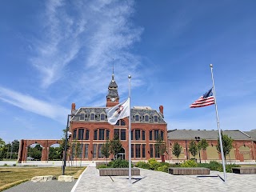
[[[251,162],[255,160],[256,149],[256,131],[241,130],[223,130],[222,134],[227,134],[234,139],[233,149],[227,155],[226,161],[230,162]],[[218,130],[168,130],[168,147],[169,154],[167,159],[173,161],[180,161],[194,158],[189,151],[189,144],[195,137],[206,139],[209,146],[207,149],[200,150],[202,162],[219,161],[221,154],[218,154],[216,145],[218,143]],[[172,147],[174,142],[178,142],[182,146],[182,154],[176,158],[172,154]],[[195,141],[196,142],[196,141]],[[199,160],[199,154],[196,155]]]

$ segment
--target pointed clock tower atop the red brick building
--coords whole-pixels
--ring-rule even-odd
[[[114,73],[112,74],[112,80],[109,85],[109,91],[106,95],[106,107],[116,106],[119,103],[118,85],[114,81]]]

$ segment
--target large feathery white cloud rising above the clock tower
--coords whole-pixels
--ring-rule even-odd
[[[133,87],[141,86],[141,58],[132,48],[142,28],[134,26],[133,14],[133,1],[48,1],[43,35],[35,42],[36,56],[30,58],[42,75],[42,87],[66,82],[75,100],[92,102],[107,92],[113,58],[119,94],[127,91],[128,74]]]

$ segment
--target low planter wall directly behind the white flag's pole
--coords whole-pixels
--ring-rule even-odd
[[[100,176],[129,176],[129,168],[104,168],[98,170]],[[131,168],[131,175],[140,175],[140,170]]]

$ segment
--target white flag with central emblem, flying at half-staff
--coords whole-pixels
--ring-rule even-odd
[[[107,121],[115,125],[119,119],[130,116],[130,98],[109,109],[106,109]]]

